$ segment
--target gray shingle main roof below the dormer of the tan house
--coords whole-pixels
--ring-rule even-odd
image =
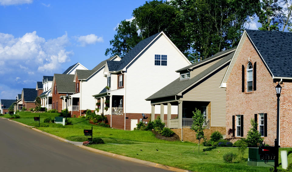
[[[206,76],[210,72],[214,71],[216,68],[223,65],[228,60],[230,60],[232,58],[233,54],[234,54],[234,52],[228,54],[226,57],[222,58],[220,61],[216,62],[214,65],[210,66],[209,68],[207,68],[206,70],[197,74],[195,77],[193,77],[191,79],[186,79],[186,80],[180,81],[180,78],[177,78],[176,80],[172,81],[170,84],[166,85],[161,90],[152,94],[146,100],[153,100],[156,98],[169,97],[169,96],[174,96],[174,95],[178,94],[179,92],[188,88],[190,85],[192,85],[196,81],[199,81],[201,78],[203,78],[204,76]]]

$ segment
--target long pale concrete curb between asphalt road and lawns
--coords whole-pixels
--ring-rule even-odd
[[[150,161],[140,160],[140,159],[136,159],[136,158],[132,158],[132,157],[126,157],[126,156],[123,156],[123,155],[113,154],[113,153],[110,153],[110,152],[101,151],[101,150],[94,149],[94,148],[91,148],[91,147],[83,146],[82,142],[68,141],[68,140],[66,140],[66,139],[64,139],[62,137],[55,136],[54,134],[50,134],[50,133],[41,131],[39,129],[33,128],[33,126],[29,126],[29,125],[26,125],[26,124],[23,124],[23,123],[20,123],[20,122],[17,122],[17,121],[13,121],[13,120],[10,120],[10,119],[7,119],[7,118],[1,118],[1,119],[5,119],[7,121],[15,122],[15,123],[23,125],[25,127],[31,128],[34,131],[37,131],[39,133],[45,134],[45,135],[50,136],[50,137],[54,137],[55,139],[58,139],[60,141],[64,141],[64,142],[67,142],[69,144],[73,144],[75,146],[81,147],[83,149],[86,149],[86,150],[89,150],[91,152],[95,152],[95,153],[98,153],[98,154],[103,154],[103,155],[106,155],[106,156],[109,156],[109,157],[113,157],[113,158],[117,158],[117,159],[121,159],[121,160],[127,160],[127,161],[130,161],[130,162],[135,162],[135,163],[138,163],[138,164],[144,164],[144,165],[148,165],[150,167],[161,168],[161,169],[169,170],[169,171],[191,172],[189,170],[183,170],[183,169],[176,168],[176,167],[170,167],[170,166],[167,166],[167,165],[156,164],[156,163],[150,162]]]

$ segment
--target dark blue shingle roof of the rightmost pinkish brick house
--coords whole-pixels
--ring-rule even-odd
[[[246,30],[275,77],[292,77],[292,33]]]

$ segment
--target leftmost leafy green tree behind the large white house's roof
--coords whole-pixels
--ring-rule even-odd
[[[112,48],[107,48],[105,55],[119,55],[122,58],[142,40],[142,37],[138,35],[135,19],[133,21],[121,21],[116,31],[114,39],[109,41]]]

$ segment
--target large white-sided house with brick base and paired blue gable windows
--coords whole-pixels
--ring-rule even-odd
[[[145,98],[178,78],[175,71],[190,64],[163,32],[152,35],[120,61],[106,61],[103,72],[106,80],[93,95],[94,103],[100,103],[96,108],[104,113],[111,127],[133,130],[142,113],[150,117],[151,109]],[[159,111],[157,108],[157,114]],[[173,107],[172,112],[177,114],[177,108]]]

